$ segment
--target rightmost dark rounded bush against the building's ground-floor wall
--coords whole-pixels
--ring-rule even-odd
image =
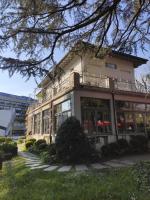
[[[130,149],[133,153],[144,153],[148,151],[148,139],[143,135],[131,136]]]

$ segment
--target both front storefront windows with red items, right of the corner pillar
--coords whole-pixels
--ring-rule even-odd
[[[81,121],[84,132],[89,135],[112,134],[111,115],[116,119],[118,134],[140,134],[150,132],[150,104],[115,101],[96,98],[81,98]],[[112,104],[113,105],[113,104]]]

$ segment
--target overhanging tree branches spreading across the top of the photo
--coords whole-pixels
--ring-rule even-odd
[[[1,49],[15,55],[1,54],[0,68],[10,75],[45,75],[56,64],[56,50],[70,49],[79,39],[96,44],[96,55],[107,53],[102,47],[144,51],[150,45],[149,13],[149,0],[1,0]]]

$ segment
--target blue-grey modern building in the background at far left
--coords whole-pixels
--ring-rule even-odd
[[[25,113],[34,100],[0,92],[0,132],[1,135],[24,135]]]

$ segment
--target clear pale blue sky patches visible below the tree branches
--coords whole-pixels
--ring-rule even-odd
[[[7,55],[8,56],[8,55]],[[57,60],[60,60],[64,56],[61,51],[57,52]],[[138,56],[150,59],[149,54],[139,53]],[[150,72],[150,61],[147,65],[143,65],[136,70],[136,76],[140,77],[143,73]],[[22,78],[21,75],[15,74],[13,77],[9,77],[8,72],[0,71],[0,92],[6,92],[10,94],[23,95],[34,97],[34,90],[37,84],[33,78],[26,81],[26,78]]]

